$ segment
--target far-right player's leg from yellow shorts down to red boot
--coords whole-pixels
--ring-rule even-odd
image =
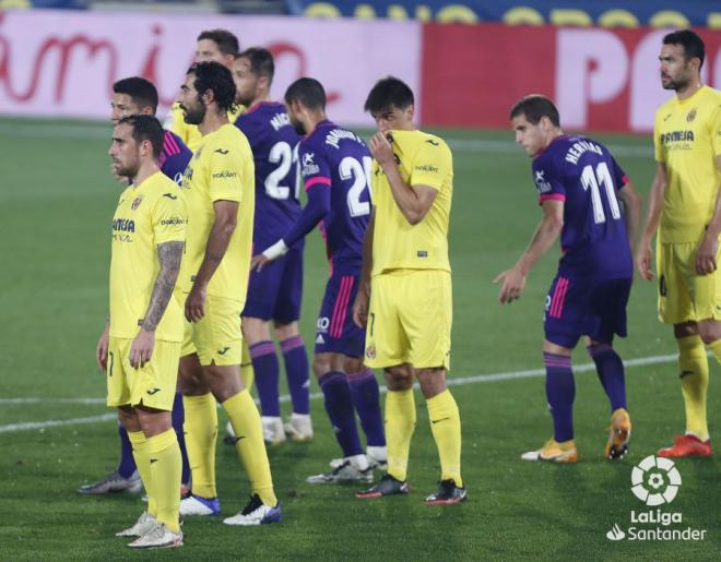
[[[661,244],[660,250],[659,318],[674,325],[686,431],[658,455],[707,456],[711,454],[706,415],[709,364],[696,320],[717,313],[716,279],[696,274],[695,244]]]

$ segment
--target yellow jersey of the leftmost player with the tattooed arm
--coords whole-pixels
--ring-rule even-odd
[[[128,187],[113,216],[110,335],[133,338],[161,271],[157,246],[185,241],[186,210],[178,186],[157,171]],[[156,339],[182,342],[184,316],[172,298],[155,330]]]

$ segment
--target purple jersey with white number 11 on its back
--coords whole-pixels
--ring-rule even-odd
[[[558,136],[533,159],[533,181],[541,202],[564,201],[559,275],[631,277],[631,251],[617,198],[628,179],[605,146],[584,136]]]

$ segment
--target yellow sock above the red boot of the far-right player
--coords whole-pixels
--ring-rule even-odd
[[[701,441],[709,439],[706,422],[706,392],[709,386],[709,362],[704,342],[697,335],[676,339],[681,391],[686,407],[686,433]],[[717,358],[721,357],[721,340],[709,346]]]

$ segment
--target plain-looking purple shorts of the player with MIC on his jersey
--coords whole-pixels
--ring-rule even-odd
[[[293,247],[260,271],[250,272],[244,316],[275,320],[282,324],[300,318],[303,246]]]

